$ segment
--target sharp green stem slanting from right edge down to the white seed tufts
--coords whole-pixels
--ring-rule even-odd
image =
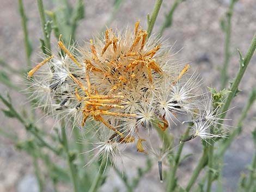
[[[234,96],[236,95],[236,92],[238,90],[238,86],[241,82],[243,74],[245,73],[245,71],[247,69],[247,66],[249,65],[249,61],[252,58],[252,55],[255,51],[255,48],[256,48],[256,33],[253,36],[253,39],[251,41],[251,45],[248,48],[245,59],[240,58],[241,59],[240,69],[239,69],[239,72],[237,73],[237,76],[236,76],[232,86],[231,86],[230,93],[228,94],[228,97],[227,97],[227,101],[225,102],[225,104],[222,108],[222,115],[220,117],[221,120],[218,121],[218,123],[219,123],[218,126],[219,127],[221,127],[221,123],[223,122],[223,119],[225,118],[225,115],[227,114],[227,110],[229,109],[230,103],[233,100]]]

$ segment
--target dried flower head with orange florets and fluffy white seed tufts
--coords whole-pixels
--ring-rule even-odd
[[[119,145],[128,143],[137,142],[137,151],[147,153],[143,142],[148,138],[139,132],[146,128],[150,134],[153,127],[167,131],[179,114],[197,119],[193,137],[221,136],[209,133],[215,111],[206,107],[201,112],[198,75],[190,75],[190,65],[174,61],[167,42],[148,38],[139,22],[134,30],[107,29],[84,47],[66,48],[60,38],[58,47],[59,53],[28,72],[29,90],[57,120],[73,120],[72,126],[84,129],[88,121],[99,122],[93,126],[97,152],[90,162],[119,156]]]

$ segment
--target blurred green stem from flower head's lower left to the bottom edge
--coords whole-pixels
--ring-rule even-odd
[[[66,152],[66,158],[68,159],[70,178],[73,184],[74,192],[78,192],[77,171],[73,163],[73,159],[70,156],[68,139],[66,137],[65,123],[63,120],[61,122],[61,132],[62,132],[62,143],[64,146],[64,150]]]

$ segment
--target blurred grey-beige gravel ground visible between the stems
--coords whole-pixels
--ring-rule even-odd
[[[29,35],[33,43],[33,65],[40,60],[39,38],[42,38],[38,8],[35,0],[24,0],[25,10],[28,17]],[[71,1],[74,2],[74,1]],[[80,44],[92,37],[95,32],[100,32],[105,25],[112,11],[113,1],[107,0],[84,0],[86,19],[80,22],[77,29],[77,39]],[[137,20],[141,20],[144,29],[147,29],[146,16],[151,13],[153,0],[124,1],[118,11],[117,17],[109,27],[123,28],[127,24],[133,26]],[[159,16],[157,17],[154,32],[156,33],[163,20],[164,14],[168,12],[174,1],[164,0]],[[52,9],[50,0],[45,0],[45,9]],[[205,86],[219,88],[220,66],[223,64],[224,34],[220,28],[220,18],[224,17],[228,9],[228,0],[187,0],[182,2],[174,14],[173,26],[168,28],[164,39],[170,44],[175,43],[175,50],[181,51],[178,58],[182,61],[191,62],[192,69],[197,69],[204,79]],[[232,21],[231,53],[229,76],[235,77],[239,68],[239,57],[236,48],[245,54],[256,31],[256,2],[255,0],[240,0],[235,5]],[[56,40],[52,44],[56,45]],[[23,45],[23,33],[21,18],[17,7],[17,1],[0,0],[0,58],[16,69],[25,69],[25,49]],[[0,68],[1,70],[1,68]],[[10,77],[16,84],[21,79],[15,75]],[[240,89],[242,92],[233,101],[234,109],[230,110],[229,117],[233,119],[230,123],[236,125],[241,109],[245,106],[248,92],[256,82],[256,55],[251,60],[245,76],[242,79]],[[1,93],[8,91],[6,86],[0,84]],[[15,106],[20,108],[26,101],[22,94],[16,94],[9,90],[13,97]],[[0,108],[2,108],[2,103]],[[242,172],[245,172],[246,165],[250,164],[253,157],[253,142],[251,131],[255,123],[256,106],[244,122],[243,133],[230,147],[224,158],[223,183],[224,191],[234,191]],[[47,120],[51,124],[50,120]],[[26,132],[20,127],[16,120],[7,120],[0,112],[0,127],[15,132],[25,137]],[[182,163],[178,175],[182,183],[186,184],[193,171],[196,160],[200,157],[200,141],[193,140],[185,145],[185,153],[193,153],[188,160]],[[132,152],[131,152],[132,153]],[[130,176],[136,174],[136,166],[143,165],[145,159],[141,154],[132,153],[132,159],[124,159],[124,166]],[[113,172],[113,171],[112,171]],[[102,191],[113,191],[115,187],[122,187],[123,184],[113,173],[108,177],[102,187]],[[121,188],[122,189],[122,188]],[[123,188],[124,189],[124,188]],[[143,178],[137,191],[163,191],[164,183],[159,182],[157,175],[157,163],[153,170]],[[33,172],[32,159],[25,153],[18,152],[10,140],[0,135],[0,192],[37,192],[38,186]],[[50,190],[49,190],[50,191]],[[63,187],[63,190],[69,188]],[[123,191],[123,190],[120,190]]]

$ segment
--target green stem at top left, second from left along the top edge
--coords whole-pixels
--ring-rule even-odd
[[[39,15],[41,20],[42,33],[44,34],[45,49],[43,49],[43,51],[45,50],[45,54],[51,55],[50,34],[47,34],[45,30],[46,18],[45,18],[44,4],[42,3],[42,0],[38,0],[38,10],[39,10]]]

